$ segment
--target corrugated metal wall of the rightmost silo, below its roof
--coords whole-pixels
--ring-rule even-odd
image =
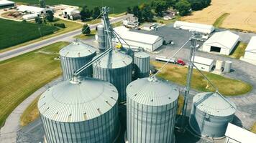
[[[227,117],[214,117],[209,115],[209,119],[207,119],[205,112],[201,112],[201,110],[196,109],[193,106],[189,124],[199,135],[209,137],[224,137],[227,124],[232,122],[233,118],[234,114]]]

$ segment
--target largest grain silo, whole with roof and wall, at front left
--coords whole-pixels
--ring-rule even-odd
[[[109,82],[64,81],[41,95],[38,109],[47,143],[109,143],[119,132],[118,92]]]

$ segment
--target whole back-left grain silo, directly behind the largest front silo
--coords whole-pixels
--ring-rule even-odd
[[[60,62],[63,69],[63,77],[69,80],[73,77],[73,72],[80,69],[96,56],[96,49],[92,46],[74,41],[60,50]],[[81,77],[92,77],[92,67],[81,72]]]

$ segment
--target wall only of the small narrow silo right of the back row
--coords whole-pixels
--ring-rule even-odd
[[[135,79],[149,77],[150,56],[145,58],[134,56],[134,74],[135,74]]]

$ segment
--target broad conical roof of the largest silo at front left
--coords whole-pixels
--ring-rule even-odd
[[[57,122],[82,122],[108,112],[118,100],[109,82],[86,78],[64,81],[47,89],[38,101],[42,116]]]

